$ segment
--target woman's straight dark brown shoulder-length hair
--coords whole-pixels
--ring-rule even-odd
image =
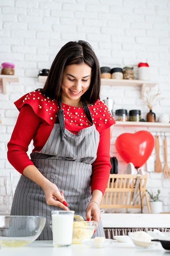
[[[78,42],[70,41],[60,49],[51,65],[44,88],[40,89],[41,92],[50,99],[59,99],[65,67],[72,64],[80,65],[81,63],[85,63],[92,68],[90,87],[83,94],[83,97],[89,103],[96,102],[100,98],[100,66],[91,45],[82,40]]]

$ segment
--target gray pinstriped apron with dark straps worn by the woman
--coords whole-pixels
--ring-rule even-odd
[[[91,199],[92,163],[96,159],[99,133],[96,130],[89,108],[83,107],[92,126],[73,134],[65,129],[63,110],[59,111],[54,127],[41,151],[31,153],[37,169],[64,193],[68,207],[86,219],[86,207]],[[45,216],[47,221],[38,240],[52,240],[49,225],[51,211],[59,207],[46,204],[44,191],[35,182],[21,176],[15,190],[11,215]],[[100,221],[94,236],[105,236]]]

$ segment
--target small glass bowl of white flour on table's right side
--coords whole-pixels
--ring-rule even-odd
[[[152,236],[148,235],[144,231],[128,232],[133,244],[138,248],[149,249],[156,245],[156,241],[151,241]]]

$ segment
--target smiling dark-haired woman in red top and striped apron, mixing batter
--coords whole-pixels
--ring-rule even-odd
[[[80,40],[61,48],[43,89],[15,102],[20,114],[8,159],[22,176],[11,215],[46,216],[40,240],[52,240],[51,211],[68,207],[97,221],[95,236],[104,236],[99,205],[111,169],[110,126],[115,121],[99,96],[98,60]]]

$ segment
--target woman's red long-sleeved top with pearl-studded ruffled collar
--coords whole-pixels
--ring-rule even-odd
[[[40,151],[46,143],[54,126],[59,106],[56,100],[45,97],[40,91],[30,92],[15,102],[20,111],[11,139],[8,143],[8,159],[14,168],[23,173],[24,168],[33,165],[27,155],[28,146],[33,139],[33,152]],[[77,134],[90,126],[84,109],[62,103],[65,128]],[[110,126],[115,124],[105,103],[97,100],[89,106],[96,130],[100,134],[97,158],[92,164],[92,191],[99,189],[104,194],[111,169]]]

